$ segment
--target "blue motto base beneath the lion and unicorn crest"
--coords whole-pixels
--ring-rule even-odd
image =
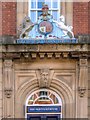
[[[59,43],[78,43],[76,38],[72,39],[18,39],[17,44],[59,44]]]

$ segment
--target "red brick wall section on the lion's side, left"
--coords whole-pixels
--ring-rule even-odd
[[[2,3],[2,35],[16,35],[16,3]]]

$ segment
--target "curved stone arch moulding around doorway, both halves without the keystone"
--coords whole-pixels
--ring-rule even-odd
[[[53,79],[50,85],[50,90],[56,92],[62,99],[63,106],[63,117],[74,117],[74,103],[73,103],[73,95],[71,89],[63,84],[60,80]],[[15,117],[21,118],[25,117],[24,107],[25,101],[27,97],[34,91],[39,90],[38,81],[36,79],[31,79],[27,83],[22,84],[18,91],[16,92],[15,97]],[[19,109],[17,109],[19,108]],[[73,112],[72,112],[73,111]]]

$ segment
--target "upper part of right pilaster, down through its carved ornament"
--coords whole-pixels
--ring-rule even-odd
[[[79,61],[79,86],[78,91],[80,97],[84,97],[86,89],[87,89],[87,73],[88,73],[88,65],[87,59],[80,59]]]

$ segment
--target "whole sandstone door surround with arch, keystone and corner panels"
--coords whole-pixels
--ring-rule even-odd
[[[15,64],[15,118],[25,117],[26,99],[41,88],[52,90],[60,96],[64,118],[75,118],[76,84],[74,61],[35,59],[27,63],[17,62]]]

